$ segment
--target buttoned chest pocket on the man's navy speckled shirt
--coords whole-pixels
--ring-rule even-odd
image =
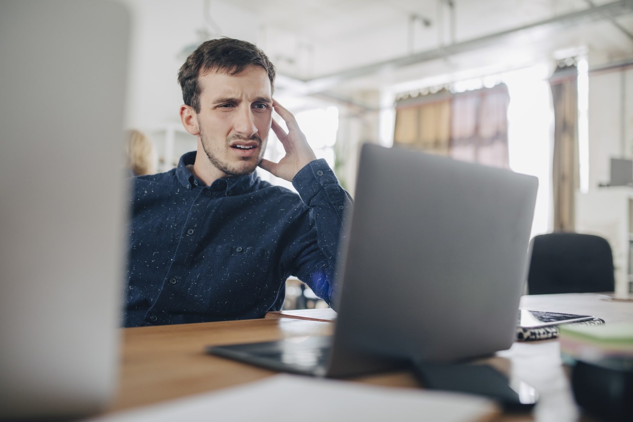
[[[200,274],[195,299],[218,314],[252,307],[266,283],[270,251],[261,247],[216,245]]]

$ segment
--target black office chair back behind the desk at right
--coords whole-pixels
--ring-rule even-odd
[[[538,235],[530,244],[529,294],[613,292],[613,256],[599,236]]]

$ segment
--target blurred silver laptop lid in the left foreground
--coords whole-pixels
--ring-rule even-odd
[[[91,413],[116,385],[127,34],[118,2],[0,1],[3,420]]]

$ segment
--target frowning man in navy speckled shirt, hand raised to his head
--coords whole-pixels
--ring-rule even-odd
[[[332,302],[351,202],[272,99],[274,80],[263,51],[228,38],[204,42],[180,68],[180,119],[197,151],[134,178],[125,326],[261,318],[281,308],[289,275]],[[286,152],[279,163],[263,159],[270,128]],[[299,195],[261,181],[258,165]]]

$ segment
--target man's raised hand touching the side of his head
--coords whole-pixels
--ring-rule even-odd
[[[260,167],[264,170],[270,171],[273,175],[280,177],[288,182],[292,182],[294,175],[301,170],[306,164],[316,159],[314,151],[312,151],[306,136],[299,129],[297,121],[290,111],[279,105],[277,101],[273,100],[273,108],[277,111],[277,114],[284,119],[286,126],[288,127],[288,133],[284,132],[284,129],[273,120],[272,130],[277,135],[277,138],[284,146],[285,156],[279,160],[279,163],[273,163],[267,159],[261,160]]]

